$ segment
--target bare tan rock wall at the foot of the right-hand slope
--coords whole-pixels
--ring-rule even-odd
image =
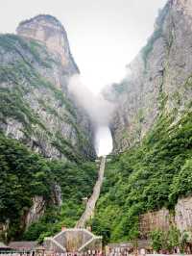
[[[139,231],[142,238],[148,238],[155,230],[168,231],[171,227],[177,227],[182,234],[192,229],[192,197],[179,199],[175,206],[174,214],[163,208],[156,212],[150,212],[140,216]]]

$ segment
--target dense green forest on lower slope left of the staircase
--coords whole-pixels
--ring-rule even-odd
[[[0,222],[10,220],[8,240],[22,238],[21,218],[29,211],[35,195],[43,196],[47,210],[23,238],[41,240],[48,232],[59,231],[62,225],[74,225],[84,211],[82,198],[91,194],[96,180],[94,163],[82,162],[77,166],[66,161],[46,160],[2,134],[0,160]],[[61,208],[53,203],[55,184],[61,188]]]

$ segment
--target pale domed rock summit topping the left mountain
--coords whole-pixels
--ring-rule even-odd
[[[49,51],[60,59],[65,71],[78,71],[70,53],[66,32],[57,18],[51,15],[37,15],[21,22],[16,31],[19,36],[45,43]]]

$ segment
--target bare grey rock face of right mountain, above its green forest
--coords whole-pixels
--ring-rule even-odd
[[[192,96],[192,2],[168,1],[156,18],[155,32],[129,65],[120,85],[105,91],[117,102],[111,122],[114,150],[140,142],[162,109],[176,119],[189,107]]]

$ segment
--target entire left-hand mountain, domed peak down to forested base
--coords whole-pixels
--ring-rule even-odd
[[[89,163],[95,158],[91,122],[68,90],[78,73],[66,32],[53,16],[37,15],[21,22],[17,35],[0,35],[4,240],[51,235],[61,221],[73,226],[84,211],[82,197],[96,173]]]

